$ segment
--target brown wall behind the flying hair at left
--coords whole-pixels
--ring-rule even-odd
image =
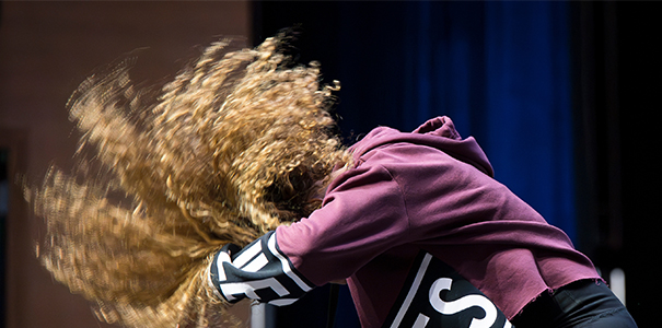
[[[95,68],[147,47],[141,75],[158,80],[219,36],[249,44],[246,1],[4,1],[0,21],[0,148],[10,174],[38,178],[50,163],[68,167],[77,134],[65,104]],[[34,256],[43,224],[21,189],[10,190],[4,326],[107,327],[89,304],[53,281]],[[241,308],[239,309],[242,311]]]

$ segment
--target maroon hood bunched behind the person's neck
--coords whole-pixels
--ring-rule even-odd
[[[492,166],[476,139],[474,137],[462,139],[455,130],[453,120],[448,116],[429,119],[410,133],[388,127],[375,128],[352,145],[349,151],[353,153],[355,159],[358,159],[375,148],[395,142],[409,142],[439,149],[458,161],[473,165],[490,177],[495,176]]]

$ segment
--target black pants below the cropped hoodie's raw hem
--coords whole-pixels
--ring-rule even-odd
[[[582,280],[543,293],[512,320],[515,328],[636,328],[625,306],[604,284]]]

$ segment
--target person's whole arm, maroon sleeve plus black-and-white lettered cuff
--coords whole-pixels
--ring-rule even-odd
[[[364,165],[329,186],[322,209],[240,249],[217,253],[209,283],[230,303],[289,305],[315,285],[342,280],[408,234],[400,187],[383,166]]]

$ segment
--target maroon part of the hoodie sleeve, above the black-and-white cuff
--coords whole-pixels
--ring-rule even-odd
[[[280,249],[316,285],[346,279],[406,239],[409,220],[397,181],[381,165],[341,174],[322,209],[276,231]]]

